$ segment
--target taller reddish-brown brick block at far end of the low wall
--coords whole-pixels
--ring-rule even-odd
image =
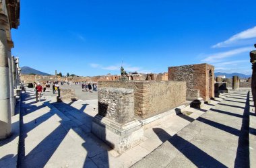
[[[214,97],[214,66],[207,64],[168,67],[169,81],[186,81],[188,89],[199,89],[200,97]]]

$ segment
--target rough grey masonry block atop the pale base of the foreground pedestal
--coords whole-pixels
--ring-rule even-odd
[[[134,118],[133,89],[103,87],[98,90],[98,114],[119,124]]]

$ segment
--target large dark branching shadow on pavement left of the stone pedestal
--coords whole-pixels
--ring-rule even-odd
[[[88,104],[84,104],[80,110],[77,110],[76,108],[70,106],[70,104],[52,103],[55,108],[57,108],[65,115],[65,117],[69,118],[70,120],[67,120],[67,118],[63,118],[62,115],[59,115],[59,118],[62,119],[60,121],[60,125],[57,126],[57,128],[55,128],[55,130],[46,136],[39,144],[37,144],[36,147],[30,151],[30,153],[25,155],[25,139],[28,136],[28,132],[43,122],[46,122],[46,120],[49,120],[49,118],[51,118],[54,114],[58,115],[59,113],[50,110],[46,114],[38,116],[38,118],[26,124],[23,122],[23,117],[27,114],[35,112],[35,110],[39,110],[40,108],[47,106],[47,103],[49,102],[46,101],[38,107],[36,107],[33,103],[26,104],[26,108],[28,108],[28,110],[26,110],[26,108],[22,108],[21,110],[18,167],[44,167],[46,163],[48,163],[49,159],[51,159],[55,151],[58,149],[61,142],[63,142],[63,139],[65,136],[67,136],[67,132],[69,132],[70,129],[74,130],[77,135],[84,139],[84,144],[82,144],[82,146],[84,146],[88,152],[84,161],[84,167],[100,167],[103,163],[98,162],[98,160],[102,158],[105,159],[104,167],[109,167],[108,153],[106,149],[100,146],[100,142],[102,143],[102,141],[96,137],[92,139],[92,136],[94,135],[91,134],[90,131],[93,118],[92,116],[89,116],[83,112]],[[40,134],[40,132],[38,134]],[[95,140],[97,142],[95,142]],[[96,157],[96,159],[94,159],[94,157]],[[95,163],[93,159],[94,161],[97,161],[97,163]]]

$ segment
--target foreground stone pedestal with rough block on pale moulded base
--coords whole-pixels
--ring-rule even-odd
[[[142,125],[134,119],[133,89],[98,90],[98,114],[92,122],[92,132],[118,153],[143,140]]]

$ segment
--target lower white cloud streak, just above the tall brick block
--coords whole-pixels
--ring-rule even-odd
[[[234,50],[229,50],[226,52],[218,52],[216,54],[210,54],[209,56],[207,56],[206,58],[204,58],[201,61],[202,62],[210,62],[210,63],[221,62],[224,58],[228,58],[228,57],[234,56],[236,54],[241,54],[243,52],[249,52],[253,49],[254,49],[253,47],[244,47],[244,48],[237,48]]]

